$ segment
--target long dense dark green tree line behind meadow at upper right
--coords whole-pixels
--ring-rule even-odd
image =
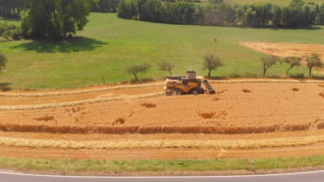
[[[200,26],[251,26],[303,28],[324,25],[324,3],[292,0],[289,6],[275,3],[235,4],[222,1],[208,5],[188,1],[120,0],[118,17],[157,23],[194,24]]]

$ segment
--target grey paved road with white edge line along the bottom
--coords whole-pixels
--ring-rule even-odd
[[[255,176],[186,176],[186,177],[79,177],[79,176],[46,176],[33,174],[13,174],[0,172],[1,182],[323,182],[324,170],[291,174],[270,174]]]

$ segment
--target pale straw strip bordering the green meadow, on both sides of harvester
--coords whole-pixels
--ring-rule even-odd
[[[231,79],[231,80],[210,80],[210,83],[324,83],[323,80],[287,80],[287,79]],[[92,92],[102,92],[109,90],[120,90],[125,88],[147,88],[154,86],[163,86],[165,83],[147,83],[141,85],[118,85],[113,87],[104,87],[104,88],[89,88],[89,89],[75,89],[69,91],[47,91],[43,92],[0,92],[0,97],[54,97],[54,96],[65,96],[71,94],[87,94]],[[162,89],[161,89],[162,90]]]

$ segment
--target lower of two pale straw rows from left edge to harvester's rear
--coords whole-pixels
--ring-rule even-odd
[[[88,103],[100,103],[100,102],[107,102],[107,101],[120,101],[125,99],[140,99],[146,97],[155,97],[159,95],[163,95],[165,92],[155,92],[150,94],[136,94],[136,95],[125,95],[120,97],[108,97],[108,98],[100,98],[100,99],[87,99],[82,101],[71,101],[71,102],[62,102],[62,103],[45,103],[39,105],[5,105],[0,106],[0,111],[3,110],[41,110],[41,109],[48,109],[48,108],[62,108],[62,107],[69,107],[75,105],[84,105]]]

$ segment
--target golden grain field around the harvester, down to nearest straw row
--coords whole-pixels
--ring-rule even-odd
[[[212,81],[216,95],[196,97],[165,97],[163,83],[2,93],[0,155],[8,155],[8,148],[75,150],[66,157],[84,159],[80,149],[245,151],[302,146],[323,153],[323,148],[314,148],[324,143],[323,81],[216,82],[221,81]],[[134,159],[125,154],[129,158]]]

